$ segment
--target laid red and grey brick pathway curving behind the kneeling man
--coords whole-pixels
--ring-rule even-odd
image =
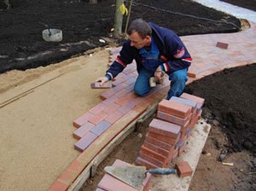
[[[224,68],[239,67],[256,62],[256,24],[243,32],[224,34],[205,34],[182,37],[193,57],[189,67],[188,84]],[[227,46],[225,49],[224,46]],[[113,61],[120,48],[113,49],[110,61]],[[115,136],[133,121],[136,121],[148,107],[166,97],[169,82],[155,87],[148,96],[139,97],[133,93],[133,84],[137,78],[135,63],[125,68],[113,81],[113,88],[102,94],[102,102],[78,119],[73,132],[78,139],[75,148],[81,151],[78,159],[64,171],[49,190],[67,190],[73,184],[90,161],[106,147]]]

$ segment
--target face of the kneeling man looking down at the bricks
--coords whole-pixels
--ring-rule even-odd
[[[131,46],[134,46],[137,49],[142,49],[143,47],[150,46],[151,44],[150,36],[141,38],[137,32],[132,32],[129,39],[131,40]]]

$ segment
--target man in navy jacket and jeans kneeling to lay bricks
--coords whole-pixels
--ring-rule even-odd
[[[162,72],[166,72],[171,81],[166,99],[181,96],[192,58],[177,34],[142,19],[133,20],[127,34],[129,40],[124,43],[116,61],[113,61],[106,75],[97,81],[104,84],[115,78],[135,59],[138,77],[134,91],[138,96],[147,95],[151,89],[149,78],[161,80]]]

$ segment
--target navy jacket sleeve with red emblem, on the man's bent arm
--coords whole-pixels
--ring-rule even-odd
[[[177,35],[166,37],[165,44],[167,59],[161,65],[163,71],[175,72],[183,68],[188,68],[191,65],[192,58]]]

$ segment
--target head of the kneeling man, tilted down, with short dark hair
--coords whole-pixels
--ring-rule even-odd
[[[131,46],[137,49],[150,46],[152,29],[143,19],[133,20],[127,30]]]

